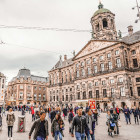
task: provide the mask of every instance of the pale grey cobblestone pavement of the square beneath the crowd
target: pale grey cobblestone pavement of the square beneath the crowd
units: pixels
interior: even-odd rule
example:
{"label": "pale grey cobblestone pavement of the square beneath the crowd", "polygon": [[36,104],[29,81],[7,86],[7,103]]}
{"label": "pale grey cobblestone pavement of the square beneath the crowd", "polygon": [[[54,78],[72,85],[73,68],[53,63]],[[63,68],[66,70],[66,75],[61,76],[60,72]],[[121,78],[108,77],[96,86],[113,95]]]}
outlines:
{"label": "pale grey cobblestone pavement of the square beneath the crowd", "polygon": [[[17,132],[17,120],[18,115],[20,115],[21,112],[15,112],[16,115],[16,122],[14,125],[14,140],[28,140],[28,133],[32,126],[31,121],[31,114],[26,113],[26,132],[25,133],[18,133]],[[107,134],[107,126],[106,126],[106,114],[102,113],[99,117],[99,124],[96,126],[95,130],[95,138],[96,140],[140,140],[140,125],[134,124],[134,118],[133,115],[131,115],[132,124],[126,125],[124,120],[124,115],[121,114],[121,127],[120,127],[120,135],[114,136],[113,138],[109,137]],[[69,124],[68,121],[65,121],[65,130],[64,135],[65,137],[63,140],[75,140],[75,138],[72,138],[68,133]],[[50,131],[50,121],[49,121],[49,131]],[[7,140],[7,125],[6,125],[6,118],[3,117],[3,128],[2,131],[0,131],[0,140]],[[54,140],[51,136],[51,133],[49,135],[49,140]]]}

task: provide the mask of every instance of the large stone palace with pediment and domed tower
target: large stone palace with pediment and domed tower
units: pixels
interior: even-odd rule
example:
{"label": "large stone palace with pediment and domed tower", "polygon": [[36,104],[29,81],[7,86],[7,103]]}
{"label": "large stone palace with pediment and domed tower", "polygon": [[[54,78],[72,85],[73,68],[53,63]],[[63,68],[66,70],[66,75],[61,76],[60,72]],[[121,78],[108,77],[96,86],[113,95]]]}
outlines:
{"label": "large stone palace with pediment and domed tower", "polygon": [[92,39],[73,58],[49,71],[50,104],[140,105],[140,31],[117,34],[115,14],[100,3],[91,18]]}

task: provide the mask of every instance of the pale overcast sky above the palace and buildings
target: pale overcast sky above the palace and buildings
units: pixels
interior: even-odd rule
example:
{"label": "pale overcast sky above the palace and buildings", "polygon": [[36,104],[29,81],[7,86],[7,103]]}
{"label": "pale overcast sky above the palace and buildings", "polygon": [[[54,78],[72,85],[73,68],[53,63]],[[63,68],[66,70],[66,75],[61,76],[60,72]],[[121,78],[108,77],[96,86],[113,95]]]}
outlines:
{"label": "pale overcast sky above the palace and buildings", "polygon": [[[134,31],[140,30],[140,22],[134,23],[135,0],[102,3],[115,13],[117,31],[121,30],[123,36],[127,35],[129,25],[134,26]],[[90,19],[98,4],[99,0],[0,0],[0,25],[91,30]],[[91,34],[0,28],[0,39],[6,43],[0,45],[0,71],[9,81],[23,67],[32,74],[47,76],[61,54],[72,57],[72,51],[82,49]]]}

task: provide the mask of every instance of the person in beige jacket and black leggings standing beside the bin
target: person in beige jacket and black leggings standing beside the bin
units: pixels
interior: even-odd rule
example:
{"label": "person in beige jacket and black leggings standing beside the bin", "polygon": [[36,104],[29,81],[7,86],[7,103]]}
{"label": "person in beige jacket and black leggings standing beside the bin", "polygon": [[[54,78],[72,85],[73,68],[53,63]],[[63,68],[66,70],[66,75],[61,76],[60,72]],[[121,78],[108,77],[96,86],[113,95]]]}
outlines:
{"label": "person in beige jacket and black leggings standing beside the bin", "polygon": [[13,112],[13,109],[10,108],[9,112],[7,113],[7,117],[6,117],[6,122],[7,122],[7,126],[8,126],[8,140],[12,140],[13,138],[13,126],[14,126],[14,122],[15,122],[15,115]]}

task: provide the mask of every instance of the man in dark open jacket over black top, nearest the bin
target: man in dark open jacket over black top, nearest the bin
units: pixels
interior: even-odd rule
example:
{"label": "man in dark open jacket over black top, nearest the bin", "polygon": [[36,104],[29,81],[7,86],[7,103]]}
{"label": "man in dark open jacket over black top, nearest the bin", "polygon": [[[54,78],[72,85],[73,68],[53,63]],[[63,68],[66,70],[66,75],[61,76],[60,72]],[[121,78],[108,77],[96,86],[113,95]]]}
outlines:
{"label": "man in dark open jacket over black top, nearest the bin", "polygon": [[30,130],[29,139],[31,139],[32,132],[34,132],[34,140],[48,140],[48,121],[45,120],[46,113],[40,113],[40,119],[36,120]]}

